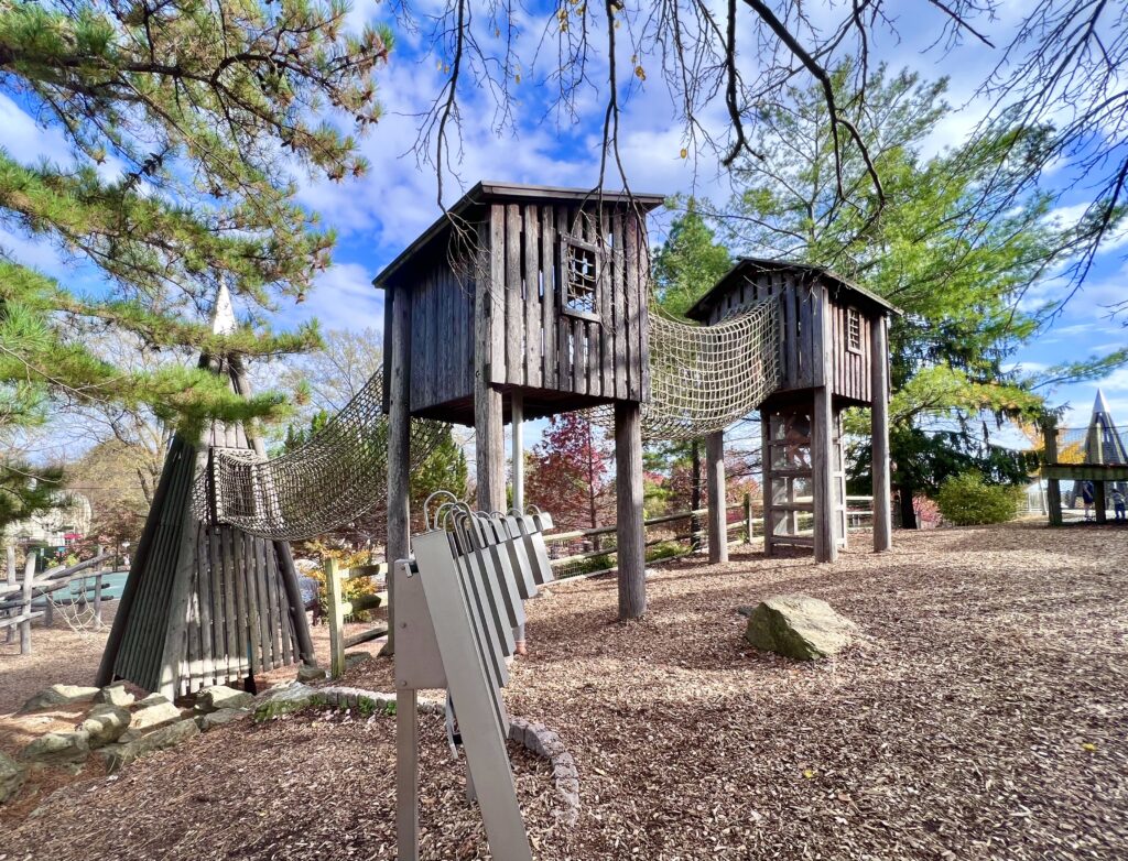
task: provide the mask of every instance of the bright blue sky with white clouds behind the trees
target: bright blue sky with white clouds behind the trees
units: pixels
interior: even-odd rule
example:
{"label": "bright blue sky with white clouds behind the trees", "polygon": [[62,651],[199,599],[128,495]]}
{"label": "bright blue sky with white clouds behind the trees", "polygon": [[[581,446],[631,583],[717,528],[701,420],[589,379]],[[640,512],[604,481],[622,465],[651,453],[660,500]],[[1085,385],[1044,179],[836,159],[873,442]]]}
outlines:
{"label": "bright blue sky with white clouds behind the trees", "polygon": [[[426,10],[435,6],[424,2],[416,8]],[[1024,7],[1019,0],[1004,5],[999,20],[989,26],[996,44],[1007,42],[1013,16]],[[943,21],[938,14],[933,15],[931,8],[922,3],[905,8],[905,17],[897,21],[899,37],[876,34],[871,45],[872,55],[888,61],[892,68],[907,65],[925,78],[951,77],[949,100],[958,110],[944,121],[928,143],[933,151],[940,151],[961,142],[982,116],[985,104],[975,98],[975,89],[998,61],[999,51],[979,43],[966,44],[948,54],[938,48],[925,51],[936,38]],[[816,9],[814,14],[825,12]],[[439,214],[434,170],[418,162],[412,147],[416,139],[417,115],[439,91],[440,68],[448,57],[435,52],[425,33],[397,26],[388,15],[386,6],[370,1],[358,2],[352,10],[355,24],[390,23],[396,33],[391,62],[378,72],[386,114],[362,141],[363,152],[371,162],[363,179],[335,185],[302,178],[301,202],[320,213],[323,222],[337,231],[340,241],[334,266],[319,278],[309,301],[282,309],[280,321],[296,323],[316,316],[325,329],[380,328],[381,296],[371,286],[372,277]],[[517,21],[515,38],[526,48],[521,53],[528,56],[552,14],[545,12],[539,18],[527,12],[522,16]],[[620,64],[627,65],[631,51],[629,46],[622,47]],[[545,56],[545,60],[550,57]],[[598,57],[594,61],[592,76],[597,79],[603,76],[602,63]],[[493,103],[484,92],[467,89],[462,94],[462,148],[458,167],[462,185],[459,187],[453,177],[447,178],[450,189],[447,203],[484,178],[585,187],[596,181],[603,113],[601,95],[583,90],[578,99],[575,122],[557,125],[554,117],[545,117],[550,94],[543,82],[543,71],[536,68],[521,71],[523,83],[513,85],[515,132],[495,132]],[[726,198],[719,167],[707,153],[680,158],[682,127],[661,76],[650,74],[645,83],[640,83],[631,78],[627,65],[624,83],[627,82],[631,91],[622,118],[620,140],[632,188],[662,194],[695,192],[719,201]],[[706,122],[720,122],[720,105],[707,112]],[[27,160],[37,156],[67,158],[59,132],[38,127],[18,104],[2,94],[0,145]],[[112,170],[113,166],[106,169]],[[1076,205],[1084,199],[1084,193],[1081,187],[1064,198],[1063,216],[1079,214]],[[655,220],[652,243],[662,241],[664,228],[662,219]],[[18,259],[33,263],[65,283],[97,286],[88,269],[76,270],[68,266],[47,246],[7,231],[0,231],[0,240]],[[1084,291],[1067,305],[1052,328],[1017,357],[1024,367],[1034,370],[1125,344],[1126,330],[1121,320],[1109,319],[1107,305],[1125,296],[1128,265],[1123,254],[1128,242],[1113,245],[1117,247],[1098,258]],[[1114,373],[1102,385],[1113,415],[1128,424],[1128,370]],[[1094,392],[1093,384],[1063,388],[1052,392],[1051,400],[1069,403],[1084,421]]]}

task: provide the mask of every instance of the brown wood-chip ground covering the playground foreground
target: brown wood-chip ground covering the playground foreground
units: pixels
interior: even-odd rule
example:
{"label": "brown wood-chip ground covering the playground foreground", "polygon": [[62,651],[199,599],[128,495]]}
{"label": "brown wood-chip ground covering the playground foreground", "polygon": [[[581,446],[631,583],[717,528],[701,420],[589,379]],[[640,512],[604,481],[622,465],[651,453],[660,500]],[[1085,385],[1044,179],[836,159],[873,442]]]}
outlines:
{"label": "brown wood-chip ground covering the playground foreground", "polygon": [[[530,602],[506,699],[559,734],[581,798],[563,827],[544,762],[514,751],[535,856],[1128,856],[1128,531],[895,540],[874,556],[858,535],[835,566],[663,566],[627,625],[606,579]],[[749,647],[737,607],[795,592],[864,640],[819,664]],[[347,683],[391,690],[390,667]],[[421,725],[423,856],[488,858],[439,718]],[[391,859],[393,805],[394,721],[308,713],[74,783],[0,856]]]}

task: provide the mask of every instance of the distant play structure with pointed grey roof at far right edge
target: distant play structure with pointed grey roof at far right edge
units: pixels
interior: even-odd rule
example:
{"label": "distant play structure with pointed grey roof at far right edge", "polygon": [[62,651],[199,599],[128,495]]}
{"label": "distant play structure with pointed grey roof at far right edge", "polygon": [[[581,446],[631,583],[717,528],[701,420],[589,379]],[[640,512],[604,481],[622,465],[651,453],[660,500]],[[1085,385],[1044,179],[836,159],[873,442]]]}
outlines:
{"label": "distant play structure with pointed grey roof at far right edge", "polygon": [[[1058,427],[1047,421],[1043,429],[1041,477],[1047,481],[1047,508],[1051,526],[1065,523],[1064,508],[1075,508],[1092,482],[1093,516],[1108,521],[1113,490],[1128,495],[1128,427],[1118,427],[1104,393],[1098,390],[1093,414],[1084,427]],[[1067,482],[1063,505],[1061,482]]]}

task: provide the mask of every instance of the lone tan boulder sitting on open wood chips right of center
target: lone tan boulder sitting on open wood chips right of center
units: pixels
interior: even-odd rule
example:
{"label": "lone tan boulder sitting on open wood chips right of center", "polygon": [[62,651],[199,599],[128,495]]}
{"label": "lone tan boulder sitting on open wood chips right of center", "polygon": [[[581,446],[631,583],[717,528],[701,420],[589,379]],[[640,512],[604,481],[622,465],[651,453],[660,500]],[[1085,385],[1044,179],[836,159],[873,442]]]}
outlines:
{"label": "lone tan boulder sitting on open wood chips right of center", "polygon": [[748,616],[744,639],[766,651],[797,660],[836,655],[854,641],[857,625],[825,601],[779,595],[757,605]]}

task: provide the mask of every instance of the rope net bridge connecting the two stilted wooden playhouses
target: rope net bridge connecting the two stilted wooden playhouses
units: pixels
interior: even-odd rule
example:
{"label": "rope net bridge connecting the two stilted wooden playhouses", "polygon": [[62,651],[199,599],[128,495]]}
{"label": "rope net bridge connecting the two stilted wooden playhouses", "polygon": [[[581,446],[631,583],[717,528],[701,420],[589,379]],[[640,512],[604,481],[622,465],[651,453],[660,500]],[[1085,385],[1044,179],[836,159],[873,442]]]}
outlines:
{"label": "rope net bridge connecting the two stilted wooden playhouses", "polygon": [[[755,410],[778,385],[779,303],[770,298],[712,326],[668,317],[650,304],[650,402],[643,440],[696,440]],[[592,410],[614,427],[614,408]]]}

